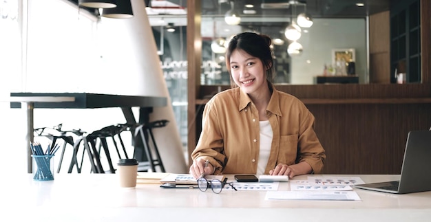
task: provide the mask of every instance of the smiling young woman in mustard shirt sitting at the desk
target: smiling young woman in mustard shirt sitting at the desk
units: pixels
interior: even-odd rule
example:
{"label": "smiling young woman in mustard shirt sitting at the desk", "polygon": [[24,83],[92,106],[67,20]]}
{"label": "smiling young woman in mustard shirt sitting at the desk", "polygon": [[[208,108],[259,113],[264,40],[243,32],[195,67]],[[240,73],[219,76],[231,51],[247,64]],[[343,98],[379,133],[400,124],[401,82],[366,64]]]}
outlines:
{"label": "smiling young woman in mustard shirt sitting at the desk", "polygon": [[202,132],[191,154],[193,177],[294,177],[322,170],[326,155],[314,131],[315,118],[300,100],[273,86],[270,45],[269,36],[252,32],[229,42],[226,65],[233,89],[213,96],[204,108]]}

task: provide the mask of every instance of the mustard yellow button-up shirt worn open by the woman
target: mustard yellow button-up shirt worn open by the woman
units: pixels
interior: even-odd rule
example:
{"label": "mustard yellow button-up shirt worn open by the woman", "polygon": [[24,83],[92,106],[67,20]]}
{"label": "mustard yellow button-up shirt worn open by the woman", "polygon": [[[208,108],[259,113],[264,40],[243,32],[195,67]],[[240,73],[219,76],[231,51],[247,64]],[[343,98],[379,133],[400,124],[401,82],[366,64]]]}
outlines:
{"label": "mustard yellow button-up shirt worn open by the woman", "polygon": [[[307,162],[314,173],[320,173],[326,155],[314,131],[315,118],[304,103],[273,87],[266,115],[273,129],[273,140],[265,174],[277,164],[299,162]],[[228,89],[205,105],[202,132],[191,157],[209,159],[215,175],[255,174],[259,136],[255,105],[239,87]]]}

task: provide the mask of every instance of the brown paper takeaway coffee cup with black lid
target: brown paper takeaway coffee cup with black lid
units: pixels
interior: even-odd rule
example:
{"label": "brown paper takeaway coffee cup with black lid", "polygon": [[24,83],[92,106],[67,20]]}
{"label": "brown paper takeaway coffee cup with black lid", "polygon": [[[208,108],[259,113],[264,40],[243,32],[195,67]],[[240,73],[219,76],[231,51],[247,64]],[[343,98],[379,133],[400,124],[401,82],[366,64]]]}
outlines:
{"label": "brown paper takeaway coffee cup with black lid", "polygon": [[120,187],[136,187],[136,175],[138,174],[138,162],[136,159],[119,159],[117,166]]}

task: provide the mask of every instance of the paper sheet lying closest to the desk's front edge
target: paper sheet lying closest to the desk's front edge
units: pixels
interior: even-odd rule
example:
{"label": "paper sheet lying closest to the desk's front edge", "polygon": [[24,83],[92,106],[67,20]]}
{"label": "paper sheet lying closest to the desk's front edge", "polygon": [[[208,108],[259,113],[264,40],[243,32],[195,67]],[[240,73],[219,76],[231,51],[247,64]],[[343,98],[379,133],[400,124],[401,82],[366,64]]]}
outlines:
{"label": "paper sheet lying closest to the desk's front edge", "polygon": [[355,191],[269,191],[266,200],[360,201]]}

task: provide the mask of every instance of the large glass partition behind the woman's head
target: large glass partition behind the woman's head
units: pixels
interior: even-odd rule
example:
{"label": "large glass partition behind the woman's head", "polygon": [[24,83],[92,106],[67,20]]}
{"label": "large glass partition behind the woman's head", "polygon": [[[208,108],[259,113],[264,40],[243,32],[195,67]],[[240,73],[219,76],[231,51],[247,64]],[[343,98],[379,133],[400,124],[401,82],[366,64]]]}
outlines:
{"label": "large glass partition behind the woman's head", "polygon": [[[366,19],[313,19],[314,24],[302,28],[302,36],[296,41],[302,45],[299,54],[289,54],[293,43],[284,36],[285,18],[273,22],[254,22],[253,25],[227,25],[222,19],[202,19],[202,85],[229,85],[229,73],[224,63],[224,51],[220,41],[240,32],[268,34],[273,38],[275,56],[275,83],[308,85],[315,83],[317,76],[346,76],[347,65],[354,64],[349,72],[357,76],[359,83],[367,83],[367,32]],[[218,45],[218,47],[214,47]],[[337,58],[339,50],[353,52],[351,58]],[[342,63],[340,63],[342,61]],[[341,70],[341,66],[343,69]]]}

